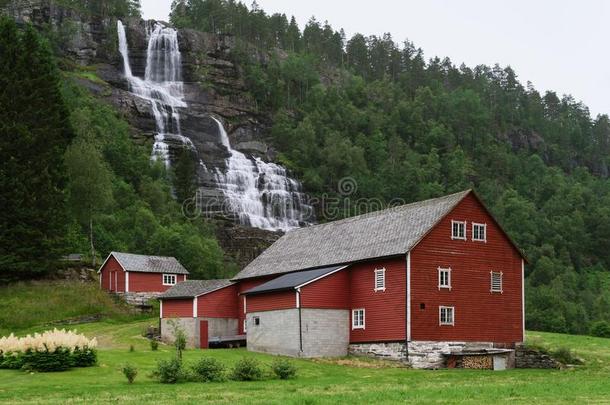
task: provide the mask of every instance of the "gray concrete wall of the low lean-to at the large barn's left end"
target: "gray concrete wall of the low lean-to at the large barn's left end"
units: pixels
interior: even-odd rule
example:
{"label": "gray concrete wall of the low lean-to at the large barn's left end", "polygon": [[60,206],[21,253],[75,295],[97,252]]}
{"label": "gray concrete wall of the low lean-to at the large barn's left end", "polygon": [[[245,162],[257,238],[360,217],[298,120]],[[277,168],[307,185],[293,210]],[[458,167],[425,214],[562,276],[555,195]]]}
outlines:
{"label": "gray concrete wall of the low lean-to at the large barn's left end", "polygon": [[218,336],[234,336],[237,334],[238,321],[235,318],[163,318],[161,319],[161,340],[174,343],[175,327],[177,325],[186,334],[186,347],[199,347],[199,321],[208,321],[208,339]]}

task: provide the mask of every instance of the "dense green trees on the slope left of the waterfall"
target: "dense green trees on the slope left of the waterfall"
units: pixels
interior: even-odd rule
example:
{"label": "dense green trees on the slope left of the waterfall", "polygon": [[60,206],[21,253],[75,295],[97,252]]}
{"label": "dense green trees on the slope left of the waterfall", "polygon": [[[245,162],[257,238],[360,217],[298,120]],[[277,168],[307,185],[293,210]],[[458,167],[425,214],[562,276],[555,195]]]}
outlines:
{"label": "dense green trees on the slope left of the waterfall", "polygon": [[72,252],[99,265],[111,250],[176,256],[194,278],[233,274],[210,224],[182,215],[173,173],[75,83],[95,74],[58,69],[53,48],[0,19],[0,281],[44,276]]}

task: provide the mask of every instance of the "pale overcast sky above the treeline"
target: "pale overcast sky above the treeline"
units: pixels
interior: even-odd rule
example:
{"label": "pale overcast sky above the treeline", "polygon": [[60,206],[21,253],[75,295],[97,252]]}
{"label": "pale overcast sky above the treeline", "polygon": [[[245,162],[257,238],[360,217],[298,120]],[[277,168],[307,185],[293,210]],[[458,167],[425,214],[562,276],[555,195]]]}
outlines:
{"label": "pale overcast sky above the treeline", "polygon": [[[167,20],[172,0],[142,0],[145,18]],[[246,4],[250,5],[248,0]],[[607,3],[607,4],[606,4]],[[510,65],[525,85],[572,94],[593,115],[610,113],[610,2],[604,0],[258,0],[268,14],[315,15],[349,36],[389,32],[426,58]]]}

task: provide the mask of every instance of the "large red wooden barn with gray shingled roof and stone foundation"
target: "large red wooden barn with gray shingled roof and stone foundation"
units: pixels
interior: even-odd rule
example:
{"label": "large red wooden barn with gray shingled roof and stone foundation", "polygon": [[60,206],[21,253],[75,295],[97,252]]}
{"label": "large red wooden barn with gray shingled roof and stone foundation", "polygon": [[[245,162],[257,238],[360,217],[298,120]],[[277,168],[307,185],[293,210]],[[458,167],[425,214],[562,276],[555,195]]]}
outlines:
{"label": "large red wooden barn with gray shingled roof and stone foundation", "polygon": [[468,190],[290,231],[218,305],[249,350],[441,367],[523,341],[524,260]]}

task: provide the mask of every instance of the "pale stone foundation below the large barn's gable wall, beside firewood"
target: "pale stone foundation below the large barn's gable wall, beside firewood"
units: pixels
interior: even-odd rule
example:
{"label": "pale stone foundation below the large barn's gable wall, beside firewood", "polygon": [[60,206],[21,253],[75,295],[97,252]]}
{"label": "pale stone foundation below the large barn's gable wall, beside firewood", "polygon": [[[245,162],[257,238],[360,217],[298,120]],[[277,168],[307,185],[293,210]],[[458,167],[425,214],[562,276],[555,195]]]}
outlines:
{"label": "pale stone foundation below the large barn's gable wall, beside firewood", "polygon": [[491,342],[409,342],[409,364],[413,368],[437,369],[445,368],[444,355],[453,352],[476,351],[492,349]]}

